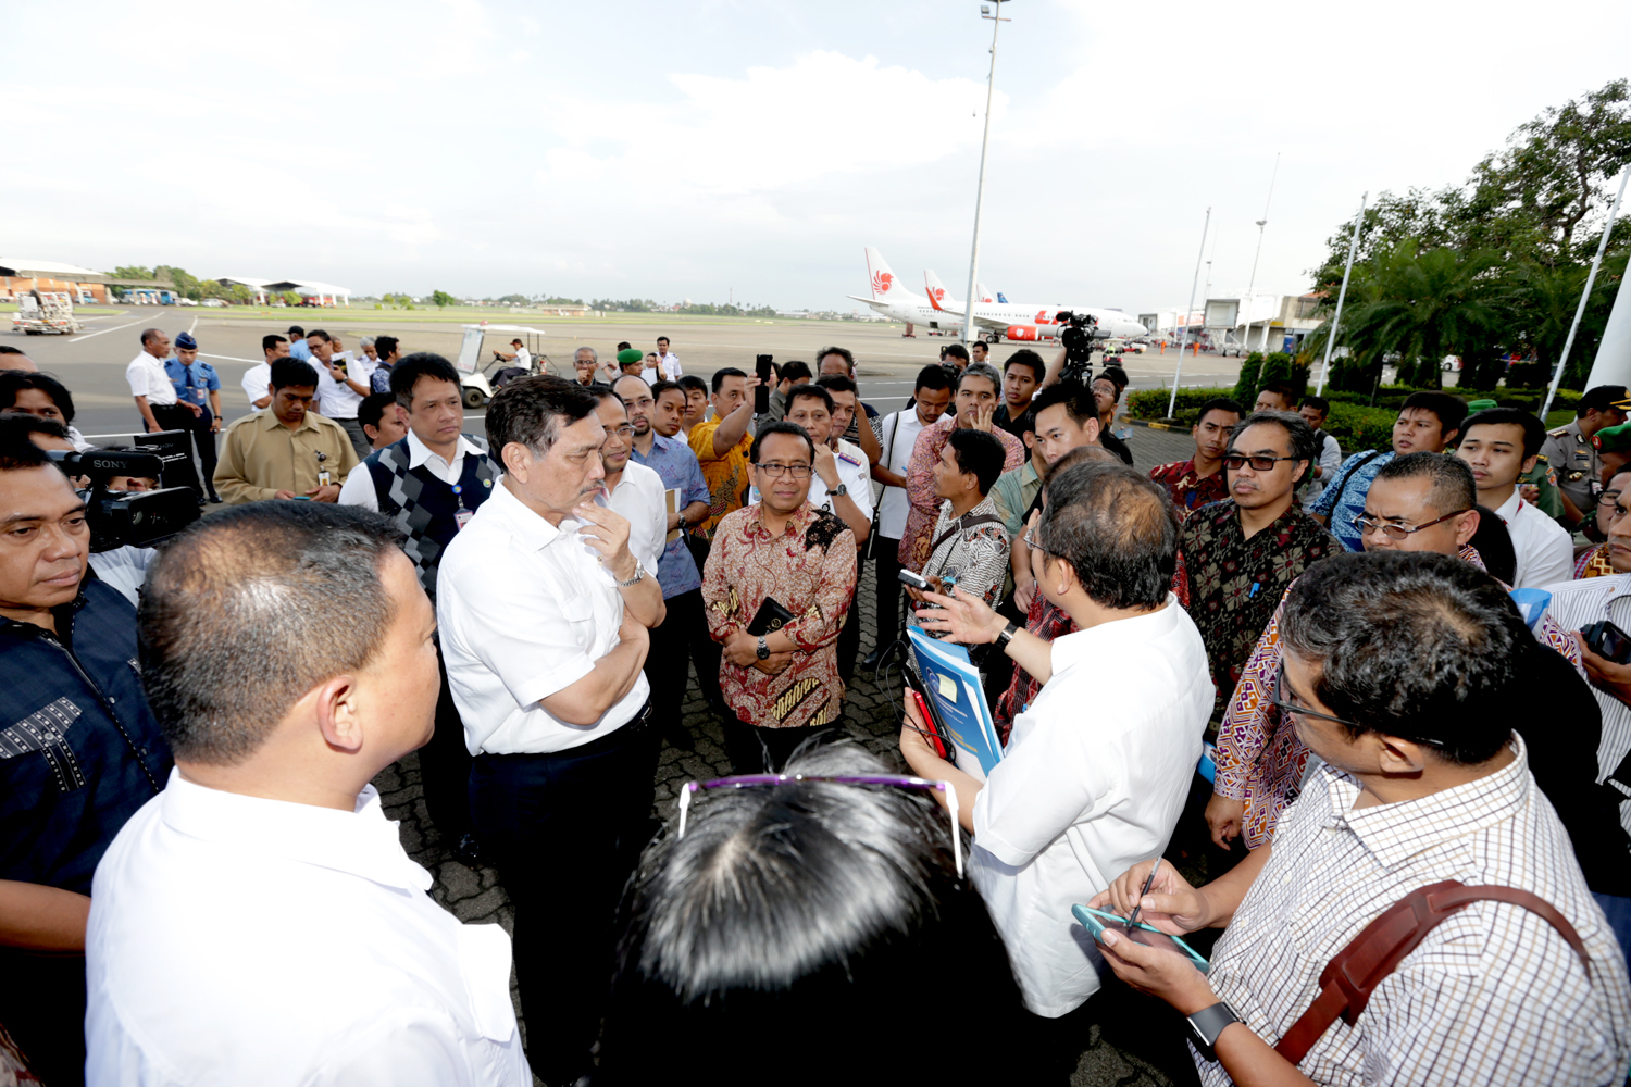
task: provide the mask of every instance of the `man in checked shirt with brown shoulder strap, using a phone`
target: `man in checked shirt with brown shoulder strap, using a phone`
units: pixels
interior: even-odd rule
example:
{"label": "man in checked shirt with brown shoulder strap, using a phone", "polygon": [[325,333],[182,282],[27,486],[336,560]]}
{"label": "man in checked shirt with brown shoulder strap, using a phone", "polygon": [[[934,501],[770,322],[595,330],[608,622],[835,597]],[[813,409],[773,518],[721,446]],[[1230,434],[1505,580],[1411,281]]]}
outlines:
{"label": "man in checked shirt with brown shoulder strap, using a phone", "polygon": [[[1541,655],[1504,588],[1448,556],[1342,554],[1297,583],[1275,701],[1324,766],[1274,844],[1202,888],[1140,860],[1090,903],[1173,935],[1228,926],[1207,975],[1114,929],[1099,944],[1189,1020],[1200,1082],[1623,1080],[1623,952],[1536,787]],[[1417,891],[1448,924],[1395,918],[1386,935],[1419,939],[1383,958],[1360,937],[1342,978],[1365,996],[1333,981]]]}

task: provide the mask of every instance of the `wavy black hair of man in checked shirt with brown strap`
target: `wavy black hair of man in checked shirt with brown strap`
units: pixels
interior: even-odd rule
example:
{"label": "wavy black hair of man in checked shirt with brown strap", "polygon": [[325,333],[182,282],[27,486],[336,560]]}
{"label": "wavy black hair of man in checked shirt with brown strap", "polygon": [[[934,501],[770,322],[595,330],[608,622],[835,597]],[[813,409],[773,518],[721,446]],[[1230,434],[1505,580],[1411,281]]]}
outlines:
{"label": "wavy black hair of man in checked shirt with brown strap", "polygon": [[[1487,763],[1523,702],[1525,647],[1536,647],[1507,590],[1430,551],[1336,554],[1292,582],[1285,650],[1318,670],[1303,691],[1367,732],[1421,743],[1448,763]],[[1549,650],[1543,650],[1549,652]]]}

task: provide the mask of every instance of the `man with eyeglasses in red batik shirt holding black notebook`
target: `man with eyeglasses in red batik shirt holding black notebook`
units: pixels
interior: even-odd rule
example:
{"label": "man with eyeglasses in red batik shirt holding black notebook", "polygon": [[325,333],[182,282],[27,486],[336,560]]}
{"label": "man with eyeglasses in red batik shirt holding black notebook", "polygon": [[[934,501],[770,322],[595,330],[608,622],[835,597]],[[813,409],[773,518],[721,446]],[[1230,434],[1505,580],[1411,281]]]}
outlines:
{"label": "man with eyeglasses in red batik shirt holding black notebook", "polygon": [[719,521],[703,570],[737,774],[778,771],[843,714],[837,640],[856,570],[855,533],[807,500],[809,432],[794,422],[760,427],[749,461],[758,500]]}

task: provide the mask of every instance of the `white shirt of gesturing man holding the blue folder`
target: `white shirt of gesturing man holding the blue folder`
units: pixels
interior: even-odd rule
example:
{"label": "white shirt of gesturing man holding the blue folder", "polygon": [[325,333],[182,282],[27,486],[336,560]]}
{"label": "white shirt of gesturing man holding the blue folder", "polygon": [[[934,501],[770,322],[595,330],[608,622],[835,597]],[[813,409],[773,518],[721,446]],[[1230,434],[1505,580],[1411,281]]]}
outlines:
{"label": "white shirt of gesturing man holding the blue folder", "polygon": [[1070,908],[1173,836],[1212,714],[1207,650],[1168,595],[1160,611],[1054,640],[1054,678],[1014,719],[974,799],[969,875],[1008,947],[1026,1007],[1057,1019],[1099,989]]}

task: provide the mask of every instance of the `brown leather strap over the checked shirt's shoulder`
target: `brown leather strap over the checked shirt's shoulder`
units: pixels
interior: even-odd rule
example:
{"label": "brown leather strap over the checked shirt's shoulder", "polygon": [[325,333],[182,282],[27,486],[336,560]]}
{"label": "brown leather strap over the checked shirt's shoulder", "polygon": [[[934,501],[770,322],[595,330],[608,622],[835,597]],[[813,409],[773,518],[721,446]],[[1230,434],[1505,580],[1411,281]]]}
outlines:
{"label": "brown leather strap over the checked shirt's shoulder", "polygon": [[1324,973],[1319,975],[1319,996],[1292,1023],[1274,1051],[1298,1064],[1337,1019],[1352,1027],[1377,986],[1398,970],[1427,934],[1474,901],[1509,903],[1538,914],[1574,948],[1590,979],[1592,962],[1580,934],[1545,898],[1515,887],[1466,887],[1456,880],[1443,880],[1419,887],[1388,906],[1326,963]]}

